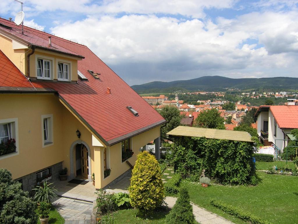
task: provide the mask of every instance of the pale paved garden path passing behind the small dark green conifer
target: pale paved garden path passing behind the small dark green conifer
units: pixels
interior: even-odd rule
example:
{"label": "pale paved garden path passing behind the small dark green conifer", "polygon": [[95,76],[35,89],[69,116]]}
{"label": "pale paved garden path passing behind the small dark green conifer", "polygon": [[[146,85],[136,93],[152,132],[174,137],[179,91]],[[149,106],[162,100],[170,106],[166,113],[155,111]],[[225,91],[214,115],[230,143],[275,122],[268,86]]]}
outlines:
{"label": "pale paved garden path passing behind the small dark green conifer", "polygon": [[[173,208],[176,200],[176,197],[166,197],[165,202],[167,202],[169,208]],[[217,214],[199,207],[198,205],[195,205],[193,203],[191,204],[193,206],[193,214],[195,216],[195,220],[200,224],[234,224],[231,221],[218,216]]]}

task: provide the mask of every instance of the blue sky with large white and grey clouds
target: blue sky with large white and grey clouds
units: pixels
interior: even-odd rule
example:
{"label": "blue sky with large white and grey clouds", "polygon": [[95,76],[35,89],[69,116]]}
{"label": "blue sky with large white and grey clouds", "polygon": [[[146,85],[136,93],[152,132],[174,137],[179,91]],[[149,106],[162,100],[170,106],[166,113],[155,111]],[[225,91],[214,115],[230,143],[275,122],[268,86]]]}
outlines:
{"label": "blue sky with large white and grey clouds", "polygon": [[[298,77],[298,0],[23,0],[24,24],[88,46],[129,85]],[[21,10],[0,1],[0,16]]]}

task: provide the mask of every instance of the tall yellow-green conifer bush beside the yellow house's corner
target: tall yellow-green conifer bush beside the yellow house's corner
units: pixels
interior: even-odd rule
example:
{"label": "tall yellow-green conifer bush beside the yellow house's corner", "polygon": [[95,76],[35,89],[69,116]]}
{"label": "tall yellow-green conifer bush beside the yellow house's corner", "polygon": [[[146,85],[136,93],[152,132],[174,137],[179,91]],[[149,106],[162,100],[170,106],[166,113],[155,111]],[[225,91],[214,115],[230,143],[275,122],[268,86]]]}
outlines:
{"label": "tall yellow-green conifer bush beside the yellow house's corner", "polygon": [[131,205],[145,214],[162,204],[164,187],[160,166],[147,151],[137,157],[128,190]]}

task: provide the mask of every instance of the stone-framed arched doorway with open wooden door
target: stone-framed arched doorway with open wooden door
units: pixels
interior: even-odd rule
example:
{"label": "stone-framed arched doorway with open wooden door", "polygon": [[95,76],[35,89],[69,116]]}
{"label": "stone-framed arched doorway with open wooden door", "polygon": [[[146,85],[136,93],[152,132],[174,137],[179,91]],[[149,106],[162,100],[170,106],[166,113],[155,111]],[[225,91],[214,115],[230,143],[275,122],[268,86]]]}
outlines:
{"label": "stone-framed arched doorway with open wooden door", "polygon": [[78,176],[91,181],[91,153],[88,144],[77,140],[70,147],[70,178]]}

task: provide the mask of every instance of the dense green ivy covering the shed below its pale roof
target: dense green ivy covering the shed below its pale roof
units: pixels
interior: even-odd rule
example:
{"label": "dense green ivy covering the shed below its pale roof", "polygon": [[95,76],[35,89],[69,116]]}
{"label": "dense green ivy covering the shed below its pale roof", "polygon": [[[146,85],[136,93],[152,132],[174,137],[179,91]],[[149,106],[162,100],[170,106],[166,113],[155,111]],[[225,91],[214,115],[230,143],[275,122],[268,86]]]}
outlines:
{"label": "dense green ivy covering the shed below its pale roof", "polygon": [[206,177],[222,184],[250,184],[255,175],[250,142],[176,137],[169,151],[168,160],[183,177],[199,178],[205,169]]}

